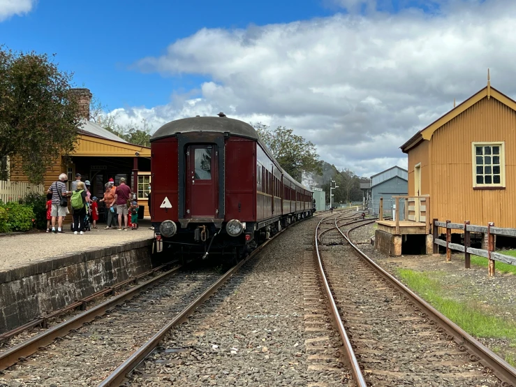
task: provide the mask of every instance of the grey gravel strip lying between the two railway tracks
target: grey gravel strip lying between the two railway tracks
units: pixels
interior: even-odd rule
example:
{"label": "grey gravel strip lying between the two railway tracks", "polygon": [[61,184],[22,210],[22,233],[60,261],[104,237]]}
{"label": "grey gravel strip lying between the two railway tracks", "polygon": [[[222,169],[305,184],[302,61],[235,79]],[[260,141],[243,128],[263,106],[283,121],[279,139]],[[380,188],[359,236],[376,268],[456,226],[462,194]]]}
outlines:
{"label": "grey gravel strip lying between the two railway tracks", "polygon": [[[331,348],[338,345],[331,324],[322,319],[320,331],[307,330],[314,328],[307,314],[318,313],[306,302],[314,282],[304,265],[306,252],[311,261],[317,222],[304,221],[273,240],[188,323],[172,330],[128,385],[346,386],[350,377]],[[313,356],[314,343],[334,355]]]}

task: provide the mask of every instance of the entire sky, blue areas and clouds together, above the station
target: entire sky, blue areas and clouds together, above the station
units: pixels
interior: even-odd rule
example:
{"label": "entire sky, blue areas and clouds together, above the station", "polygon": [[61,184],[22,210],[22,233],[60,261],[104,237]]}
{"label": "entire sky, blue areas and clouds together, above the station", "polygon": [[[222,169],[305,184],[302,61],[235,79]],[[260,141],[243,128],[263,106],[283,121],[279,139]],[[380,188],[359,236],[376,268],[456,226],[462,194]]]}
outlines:
{"label": "entire sky, blue areas and clouds together, above the station", "polygon": [[222,111],[361,176],[406,168],[487,68],[514,98],[515,24],[514,0],[0,0],[0,45],[56,54],[121,124]]}

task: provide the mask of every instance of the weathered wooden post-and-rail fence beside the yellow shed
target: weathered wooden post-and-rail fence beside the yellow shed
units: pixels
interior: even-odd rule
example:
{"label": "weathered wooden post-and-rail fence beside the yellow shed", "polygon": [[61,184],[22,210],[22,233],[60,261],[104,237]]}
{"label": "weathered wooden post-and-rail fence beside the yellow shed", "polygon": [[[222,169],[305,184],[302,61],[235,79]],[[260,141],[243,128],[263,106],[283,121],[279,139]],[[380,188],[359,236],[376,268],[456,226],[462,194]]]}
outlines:
{"label": "weathered wooden post-and-rail fence beside the yellow shed", "polygon": [[[446,261],[452,260],[452,250],[462,251],[464,253],[465,267],[471,267],[471,254],[483,256],[489,260],[487,270],[489,277],[494,276],[494,261],[508,263],[509,265],[516,265],[516,258],[506,256],[494,251],[494,235],[503,235],[507,237],[516,237],[516,228],[501,228],[494,227],[494,223],[489,223],[487,226],[474,226],[465,221],[464,224],[452,223],[451,221],[438,221],[434,219],[434,254],[438,253],[438,246],[446,248]],[[439,227],[446,229],[446,240],[438,239]],[[464,230],[464,246],[458,243],[452,243],[452,230]],[[487,234],[487,250],[476,249],[471,247],[471,233]]]}

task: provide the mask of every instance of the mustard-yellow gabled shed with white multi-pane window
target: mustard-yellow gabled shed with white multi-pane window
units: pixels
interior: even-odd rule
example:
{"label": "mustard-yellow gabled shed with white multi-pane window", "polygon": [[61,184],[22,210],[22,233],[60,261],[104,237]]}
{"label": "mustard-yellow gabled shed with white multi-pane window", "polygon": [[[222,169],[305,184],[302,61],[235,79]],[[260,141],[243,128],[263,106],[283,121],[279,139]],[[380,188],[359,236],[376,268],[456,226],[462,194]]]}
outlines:
{"label": "mustard-yellow gabled shed with white multi-pane window", "polygon": [[516,102],[487,87],[401,146],[408,196],[429,196],[427,223],[516,227]]}

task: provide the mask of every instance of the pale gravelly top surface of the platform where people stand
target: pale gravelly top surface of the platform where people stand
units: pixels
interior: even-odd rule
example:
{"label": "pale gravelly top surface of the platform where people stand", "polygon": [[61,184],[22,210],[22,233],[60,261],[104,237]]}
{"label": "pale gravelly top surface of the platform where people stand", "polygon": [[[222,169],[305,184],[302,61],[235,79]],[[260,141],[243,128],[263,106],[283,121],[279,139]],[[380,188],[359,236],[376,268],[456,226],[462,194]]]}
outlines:
{"label": "pale gravelly top surface of the platform where people stand", "polygon": [[101,247],[119,246],[126,242],[146,240],[154,237],[149,230],[150,221],[140,221],[139,230],[117,231],[104,229],[105,224],[91,228],[84,235],[74,235],[70,226],[64,227],[64,234],[29,233],[0,237],[0,272],[21,268],[54,256],[84,252]]}

